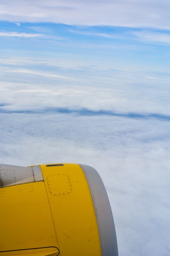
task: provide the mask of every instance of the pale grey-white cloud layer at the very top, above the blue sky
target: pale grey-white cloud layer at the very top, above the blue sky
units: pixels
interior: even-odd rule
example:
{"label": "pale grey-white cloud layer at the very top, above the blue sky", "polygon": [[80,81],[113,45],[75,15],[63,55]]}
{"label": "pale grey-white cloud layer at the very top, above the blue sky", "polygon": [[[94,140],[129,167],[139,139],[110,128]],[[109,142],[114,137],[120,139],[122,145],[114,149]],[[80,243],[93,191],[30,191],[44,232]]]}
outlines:
{"label": "pale grey-white cloud layer at the very top, above the blue sky", "polygon": [[0,19],[169,29],[169,1],[1,1]]}

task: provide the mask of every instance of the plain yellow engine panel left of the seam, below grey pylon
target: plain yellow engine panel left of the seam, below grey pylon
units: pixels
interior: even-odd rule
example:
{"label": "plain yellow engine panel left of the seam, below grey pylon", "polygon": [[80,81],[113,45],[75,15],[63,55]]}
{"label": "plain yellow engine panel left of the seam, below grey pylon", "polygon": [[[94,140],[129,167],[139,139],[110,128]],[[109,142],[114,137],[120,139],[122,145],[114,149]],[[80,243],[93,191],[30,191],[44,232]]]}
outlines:
{"label": "plain yellow engine panel left of the seam, below grey pylon", "polygon": [[[58,248],[43,181],[0,189],[0,217],[1,252],[42,247]],[[0,256],[2,255],[3,253],[0,253]]]}

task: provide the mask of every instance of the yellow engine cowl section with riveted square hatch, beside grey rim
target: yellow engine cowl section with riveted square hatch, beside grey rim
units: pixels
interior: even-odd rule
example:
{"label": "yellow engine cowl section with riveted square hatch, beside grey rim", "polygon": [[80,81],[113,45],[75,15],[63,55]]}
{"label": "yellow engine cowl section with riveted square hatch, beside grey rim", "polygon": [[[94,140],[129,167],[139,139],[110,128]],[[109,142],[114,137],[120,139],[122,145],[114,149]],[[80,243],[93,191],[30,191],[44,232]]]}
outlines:
{"label": "yellow engine cowl section with riveted square hatch, beside grey rim", "polygon": [[[101,256],[95,209],[88,183],[80,166],[64,164],[64,166],[40,165],[40,167],[49,198],[60,255]],[[64,178],[61,179],[63,189],[60,185],[58,190],[59,175],[63,175]],[[71,193],[68,193],[70,191],[65,180],[66,176],[72,188]],[[59,191],[62,193],[59,194]]]}

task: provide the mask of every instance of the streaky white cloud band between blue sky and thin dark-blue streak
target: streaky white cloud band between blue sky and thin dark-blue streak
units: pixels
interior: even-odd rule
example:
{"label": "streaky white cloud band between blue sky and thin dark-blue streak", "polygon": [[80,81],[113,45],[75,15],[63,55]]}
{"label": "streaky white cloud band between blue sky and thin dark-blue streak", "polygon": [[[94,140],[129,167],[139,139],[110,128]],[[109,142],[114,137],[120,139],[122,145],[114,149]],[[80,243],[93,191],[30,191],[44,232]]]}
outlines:
{"label": "streaky white cloud band between blue sky and thin dark-blue streak", "polygon": [[81,113],[85,109],[162,119],[169,115],[168,76],[110,68],[101,72],[97,67],[62,68],[50,61],[2,59],[1,63],[6,65],[0,68],[3,111]]}

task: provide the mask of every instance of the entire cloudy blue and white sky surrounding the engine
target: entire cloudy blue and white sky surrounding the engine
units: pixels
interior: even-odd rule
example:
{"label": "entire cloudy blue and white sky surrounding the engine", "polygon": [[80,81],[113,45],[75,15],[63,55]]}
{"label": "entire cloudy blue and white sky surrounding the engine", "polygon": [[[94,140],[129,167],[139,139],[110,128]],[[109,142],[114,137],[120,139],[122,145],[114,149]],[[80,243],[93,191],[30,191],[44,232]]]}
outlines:
{"label": "entire cloudy blue and white sky surrounding the engine", "polygon": [[0,163],[102,177],[119,256],[170,255],[169,0],[0,0]]}

